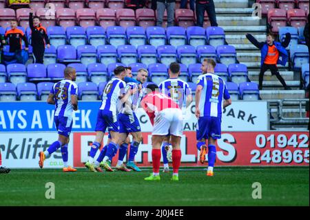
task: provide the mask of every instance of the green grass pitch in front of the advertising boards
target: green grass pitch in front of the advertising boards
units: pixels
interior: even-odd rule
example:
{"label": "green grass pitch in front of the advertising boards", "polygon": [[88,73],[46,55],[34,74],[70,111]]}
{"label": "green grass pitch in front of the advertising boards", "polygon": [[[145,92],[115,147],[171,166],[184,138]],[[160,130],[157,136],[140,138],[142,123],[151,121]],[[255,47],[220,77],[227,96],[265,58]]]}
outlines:
{"label": "green grass pitch in front of the advertising boards", "polygon": [[[309,206],[309,167],[183,168],[180,181],[144,181],[143,172],[86,169],[17,170],[0,174],[0,206]],[[46,199],[45,183],[53,182],[55,199]],[[252,184],[261,183],[262,199],[253,199]]]}

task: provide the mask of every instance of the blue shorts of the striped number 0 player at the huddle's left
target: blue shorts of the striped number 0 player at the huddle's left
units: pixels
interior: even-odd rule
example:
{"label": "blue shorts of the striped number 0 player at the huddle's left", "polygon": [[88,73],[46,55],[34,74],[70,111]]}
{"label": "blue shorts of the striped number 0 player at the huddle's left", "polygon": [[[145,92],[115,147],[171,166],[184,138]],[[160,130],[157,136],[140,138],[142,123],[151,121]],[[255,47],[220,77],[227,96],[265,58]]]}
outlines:
{"label": "blue shorts of the striped number 0 player at the huddle's left", "polygon": [[105,130],[109,130],[109,132],[118,132],[119,126],[117,117],[116,114],[113,114],[111,111],[99,110],[95,131],[105,132]]}

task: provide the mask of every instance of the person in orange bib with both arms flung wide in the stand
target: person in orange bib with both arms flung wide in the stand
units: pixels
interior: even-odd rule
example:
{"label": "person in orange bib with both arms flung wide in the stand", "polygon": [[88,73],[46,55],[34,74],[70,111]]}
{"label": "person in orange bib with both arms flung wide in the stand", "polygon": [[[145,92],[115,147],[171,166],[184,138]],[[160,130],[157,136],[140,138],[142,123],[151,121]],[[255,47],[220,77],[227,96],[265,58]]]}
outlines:
{"label": "person in orange bib with both arms flung wide in the stand", "polygon": [[265,72],[269,69],[271,74],[275,74],[278,80],[282,83],[285,90],[291,90],[285,83],[285,80],[280,76],[277,64],[285,66],[289,55],[285,48],[289,46],[291,41],[291,34],[285,34],[285,39],[282,43],[274,41],[274,35],[272,33],[267,34],[265,42],[258,42],[251,34],[245,35],[247,39],[260,49],[260,76],[259,76],[259,90],[262,90],[262,79]]}

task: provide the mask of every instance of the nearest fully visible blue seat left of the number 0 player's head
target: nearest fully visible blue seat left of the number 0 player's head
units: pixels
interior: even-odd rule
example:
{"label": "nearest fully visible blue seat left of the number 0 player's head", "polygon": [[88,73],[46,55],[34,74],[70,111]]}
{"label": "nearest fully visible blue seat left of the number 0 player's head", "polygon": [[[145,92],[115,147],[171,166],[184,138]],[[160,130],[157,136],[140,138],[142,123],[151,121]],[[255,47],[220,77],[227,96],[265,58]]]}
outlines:
{"label": "nearest fully visible blue seat left of the number 0 player's head", "polygon": [[99,85],[99,82],[109,81],[109,75],[107,74],[107,67],[102,63],[90,63],[87,66],[88,77],[90,81]]}

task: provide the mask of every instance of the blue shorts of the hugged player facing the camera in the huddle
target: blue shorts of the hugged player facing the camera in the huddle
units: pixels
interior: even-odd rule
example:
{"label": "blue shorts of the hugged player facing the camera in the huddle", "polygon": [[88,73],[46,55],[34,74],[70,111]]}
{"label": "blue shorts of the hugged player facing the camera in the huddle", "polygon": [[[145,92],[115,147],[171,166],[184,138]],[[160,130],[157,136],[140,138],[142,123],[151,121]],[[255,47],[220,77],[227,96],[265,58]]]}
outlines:
{"label": "blue shorts of the hugged player facing the camera in the huddle", "polygon": [[141,132],[140,123],[135,113],[118,114],[118,123],[120,133]]}

